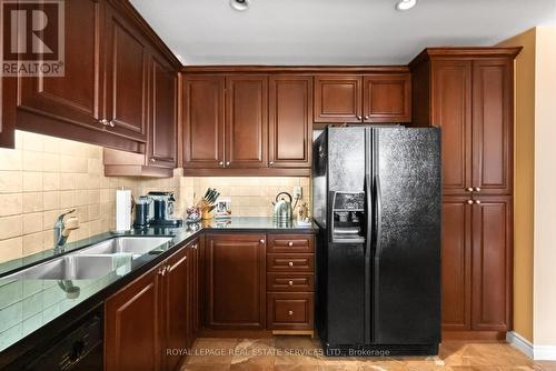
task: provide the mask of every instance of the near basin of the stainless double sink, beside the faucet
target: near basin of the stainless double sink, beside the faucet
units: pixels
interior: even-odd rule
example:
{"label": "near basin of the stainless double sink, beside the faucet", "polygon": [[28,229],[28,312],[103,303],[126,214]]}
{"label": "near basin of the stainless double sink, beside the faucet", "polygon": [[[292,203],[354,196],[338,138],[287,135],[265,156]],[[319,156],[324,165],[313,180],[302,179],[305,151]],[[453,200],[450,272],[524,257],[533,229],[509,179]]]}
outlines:
{"label": "near basin of the stainless double sink, beside the faucet", "polygon": [[116,270],[120,273],[129,272],[130,269],[131,254],[70,254],[24,269],[6,278],[16,280],[90,280],[105,277]]}

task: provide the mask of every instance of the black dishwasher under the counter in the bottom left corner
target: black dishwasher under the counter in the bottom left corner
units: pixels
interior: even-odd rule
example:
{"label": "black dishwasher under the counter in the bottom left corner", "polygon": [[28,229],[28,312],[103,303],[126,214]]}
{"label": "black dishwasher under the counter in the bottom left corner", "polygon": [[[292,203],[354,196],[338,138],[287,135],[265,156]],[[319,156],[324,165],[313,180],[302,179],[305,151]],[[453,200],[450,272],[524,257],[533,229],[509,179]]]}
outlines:
{"label": "black dishwasher under the counter in the bottom left corner", "polygon": [[21,357],[9,370],[102,371],[102,305]]}

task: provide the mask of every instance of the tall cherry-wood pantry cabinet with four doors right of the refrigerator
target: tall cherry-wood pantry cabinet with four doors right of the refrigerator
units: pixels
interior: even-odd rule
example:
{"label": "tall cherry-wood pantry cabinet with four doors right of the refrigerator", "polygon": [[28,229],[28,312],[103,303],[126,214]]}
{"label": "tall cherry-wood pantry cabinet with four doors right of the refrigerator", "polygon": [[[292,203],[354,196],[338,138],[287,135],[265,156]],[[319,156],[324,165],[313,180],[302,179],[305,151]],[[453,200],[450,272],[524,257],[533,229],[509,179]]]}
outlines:
{"label": "tall cherry-wood pantry cabinet with four doors right of the refrigerator", "polygon": [[411,63],[414,126],[443,132],[443,330],[512,330],[514,59],[433,48]]}

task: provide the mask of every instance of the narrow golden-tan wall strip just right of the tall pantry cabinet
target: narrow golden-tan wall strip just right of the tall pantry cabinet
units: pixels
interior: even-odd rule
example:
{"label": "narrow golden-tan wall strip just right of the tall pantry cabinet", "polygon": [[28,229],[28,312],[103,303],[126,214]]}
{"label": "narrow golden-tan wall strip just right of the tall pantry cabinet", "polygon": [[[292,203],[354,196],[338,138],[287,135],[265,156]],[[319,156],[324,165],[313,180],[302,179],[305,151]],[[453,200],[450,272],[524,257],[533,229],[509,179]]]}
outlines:
{"label": "narrow golden-tan wall strip just right of the tall pantry cabinet", "polygon": [[515,63],[514,331],[533,341],[535,40],[532,29],[500,43],[524,47]]}

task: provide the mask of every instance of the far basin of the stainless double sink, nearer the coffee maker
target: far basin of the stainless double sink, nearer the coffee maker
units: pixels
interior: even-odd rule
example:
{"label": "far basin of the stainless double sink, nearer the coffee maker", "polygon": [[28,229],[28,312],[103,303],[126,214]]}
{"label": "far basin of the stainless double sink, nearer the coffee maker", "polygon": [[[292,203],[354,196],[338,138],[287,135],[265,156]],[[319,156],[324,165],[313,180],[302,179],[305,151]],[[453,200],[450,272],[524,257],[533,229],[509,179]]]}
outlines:
{"label": "far basin of the stainless double sink, nearer the coffee maker", "polygon": [[133,258],[138,258],[149,251],[155,250],[170,242],[171,238],[162,237],[117,237],[97,244],[93,244],[87,249],[81,250],[79,253],[82,254],[111,254],[119,252],[129,252]]}

